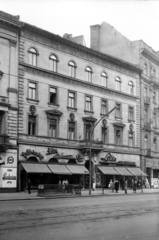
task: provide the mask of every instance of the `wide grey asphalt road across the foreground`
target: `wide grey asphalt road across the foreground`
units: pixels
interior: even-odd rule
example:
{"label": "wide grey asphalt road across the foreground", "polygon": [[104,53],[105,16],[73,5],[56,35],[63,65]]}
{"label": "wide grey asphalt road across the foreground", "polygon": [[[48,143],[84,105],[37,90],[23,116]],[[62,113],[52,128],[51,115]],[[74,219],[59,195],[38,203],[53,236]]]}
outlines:
{"label": "wide grey asphalt road across the foreground", "polygon": [[0,240],[159,240],[159,195],[0,203]]}

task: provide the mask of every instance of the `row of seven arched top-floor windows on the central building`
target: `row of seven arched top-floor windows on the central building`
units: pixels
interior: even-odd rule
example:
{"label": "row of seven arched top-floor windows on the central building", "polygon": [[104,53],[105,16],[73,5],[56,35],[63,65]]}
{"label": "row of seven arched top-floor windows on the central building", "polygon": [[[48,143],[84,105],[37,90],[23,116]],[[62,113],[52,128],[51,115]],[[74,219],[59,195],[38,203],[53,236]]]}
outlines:
{"label": "row of seven arched top-floor windows on the central building", "polygon": [[[33,66],[37,66],[37,51],[34,48],[30,48],[29,50],[29,63]],[[54,54],[50,55],[49,57],[49,61],[50,61],[50,70],[53,72],[57,72],[57,64],[59,62],[58,57]],[[76,77],[76,68],[77,65],[74,61],[69,61],[68,63],[68,71],[69,71],[69,76],[75,78]],[[86,71],[86,78],[88,82],[92,82],[92,75],[93,75],[93,70],[90,66],[87,66],[85,68]],[[107,87],[107,73],[106,72],[102,72],[101,73],[101,84],[104,87]],[[121,91],[121,78],[120,77],[116,77],[115,78],[115,86],[116,86],[116,90],[117,91]],[[133,95],[134,94],[134,84],[132,81],[129,81],[128,83],[129,86],[129,94]]]}

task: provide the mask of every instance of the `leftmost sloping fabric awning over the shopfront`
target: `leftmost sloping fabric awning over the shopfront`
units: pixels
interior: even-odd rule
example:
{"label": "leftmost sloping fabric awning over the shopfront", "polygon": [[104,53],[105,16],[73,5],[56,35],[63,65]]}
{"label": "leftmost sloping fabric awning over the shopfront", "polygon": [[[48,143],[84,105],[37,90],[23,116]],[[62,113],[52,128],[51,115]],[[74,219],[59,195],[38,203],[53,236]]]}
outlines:
{"label": "leftmost sloping fabric awning over the shopfront", "polygon": [[27,173],[51,173],[46,164],[21,163]]}

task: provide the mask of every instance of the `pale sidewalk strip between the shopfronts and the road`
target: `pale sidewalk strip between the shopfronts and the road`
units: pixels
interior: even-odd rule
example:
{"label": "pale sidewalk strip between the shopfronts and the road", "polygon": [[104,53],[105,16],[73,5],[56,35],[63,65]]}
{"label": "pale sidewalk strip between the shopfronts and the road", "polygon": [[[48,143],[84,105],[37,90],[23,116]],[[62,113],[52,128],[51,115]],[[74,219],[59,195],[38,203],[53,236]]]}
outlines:
{"label": "pale sidewalk strip between the shopfronts and the road", "polygon": [[[128,190],[128,195],[139,195],[139,194],[159,194],[159,189],[138,189],[136,194],[132,190]],[[74,198],[74,197],[97,197],[97,196],[119,196],[125,195],[125,191],[119,190],[118,193],[112,193],[109,189],[104,189],[104,194],[102,189],[96,189],[91,191],[89,195],[89,190],[82,190],[81,195],[56,195],[52,194],[49,196],[37,196],[37,191],[32,191],[31,194],[28,192],[16,192],[16,193],[0,193],[0,201],[17,201],[17,200],[39,200],[39,199],[59,199],[59,198]]]}

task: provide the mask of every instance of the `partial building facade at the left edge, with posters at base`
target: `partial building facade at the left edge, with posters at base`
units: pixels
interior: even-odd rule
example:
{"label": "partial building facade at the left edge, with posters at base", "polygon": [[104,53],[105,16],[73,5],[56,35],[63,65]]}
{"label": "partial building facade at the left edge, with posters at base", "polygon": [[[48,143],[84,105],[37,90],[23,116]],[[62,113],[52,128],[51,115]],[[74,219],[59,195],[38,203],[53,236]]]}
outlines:
{"label": "partial building facade at the left edge, with posters at base", "polygon": [[17,190],[18,20],[0,12],[0,192]]}

